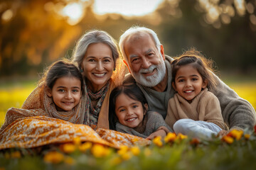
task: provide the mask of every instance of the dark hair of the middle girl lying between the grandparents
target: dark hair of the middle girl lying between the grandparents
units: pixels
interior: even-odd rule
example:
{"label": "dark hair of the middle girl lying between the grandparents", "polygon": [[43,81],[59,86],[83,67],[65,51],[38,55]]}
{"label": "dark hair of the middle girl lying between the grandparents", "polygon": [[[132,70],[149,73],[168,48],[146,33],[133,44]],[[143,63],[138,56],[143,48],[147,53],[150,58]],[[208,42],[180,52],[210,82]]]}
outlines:
{"label": "dark hair of the middle girl lying between the grandparents", "polygon": [[120,94],[125,94],[135,101],[140,101],[142,103],[143,110],[146,110],[144,106],[145,103],[147,103],[146,97],[144,96],[142,90],[139,89],[139,86],[137,86],[136,84],[122,84],[121,86],[117,86],[112,90],[110,94],[109,123],[111,130],[116,130],[115,125],[118,121],[118,118],[115,113],[115,105],[117,101],[117,96],[119,96]]}

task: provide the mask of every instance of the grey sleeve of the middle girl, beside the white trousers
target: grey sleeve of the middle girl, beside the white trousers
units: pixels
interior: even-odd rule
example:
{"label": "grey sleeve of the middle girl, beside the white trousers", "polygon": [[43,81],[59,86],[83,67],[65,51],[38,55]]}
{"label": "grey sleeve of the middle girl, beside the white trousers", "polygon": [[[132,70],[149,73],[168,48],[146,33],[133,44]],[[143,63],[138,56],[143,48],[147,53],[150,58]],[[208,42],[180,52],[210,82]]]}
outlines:
{"label": "grey sleeve of the middle girl, beside the white trousers", "polygon": [[149,111],[147,114],[149,114],[147,124],[154,125],[154,132],[160,129],[166,131],[166,134],[169,132],[173,132],[169,125],[166,124],[163,116],[160,113]]}

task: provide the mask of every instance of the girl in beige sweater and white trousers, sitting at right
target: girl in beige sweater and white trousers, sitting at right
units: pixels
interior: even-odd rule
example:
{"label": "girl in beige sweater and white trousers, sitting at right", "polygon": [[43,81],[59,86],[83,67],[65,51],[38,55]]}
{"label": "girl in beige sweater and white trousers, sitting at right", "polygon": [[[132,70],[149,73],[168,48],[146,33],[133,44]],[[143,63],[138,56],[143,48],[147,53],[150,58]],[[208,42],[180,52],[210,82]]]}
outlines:
{"label": "girl in beige sweater and white trousers, sitting at right", "polygon": [[205,139],[227,132],[218,98],[208,91],[215,88],[210,66],[196,50],[171,63],[172,86],[178,93],[169,100],[166,123],[174,132]]}

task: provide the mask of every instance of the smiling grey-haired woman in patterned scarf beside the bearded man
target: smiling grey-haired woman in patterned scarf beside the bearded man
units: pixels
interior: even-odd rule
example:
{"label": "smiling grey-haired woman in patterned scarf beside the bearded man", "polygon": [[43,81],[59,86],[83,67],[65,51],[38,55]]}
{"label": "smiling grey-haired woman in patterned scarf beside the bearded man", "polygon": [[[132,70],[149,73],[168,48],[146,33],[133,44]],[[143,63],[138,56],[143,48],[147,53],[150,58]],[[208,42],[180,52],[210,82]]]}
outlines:
{"label": "smiling grey-haired woman in patterned scarf beside the bearded man", "polygon": [[75,47],[73,61],[85,79],[85,124],[108,129],[110,92],[122,83],[125,71],[116,42],[102,30],[85,33]]}

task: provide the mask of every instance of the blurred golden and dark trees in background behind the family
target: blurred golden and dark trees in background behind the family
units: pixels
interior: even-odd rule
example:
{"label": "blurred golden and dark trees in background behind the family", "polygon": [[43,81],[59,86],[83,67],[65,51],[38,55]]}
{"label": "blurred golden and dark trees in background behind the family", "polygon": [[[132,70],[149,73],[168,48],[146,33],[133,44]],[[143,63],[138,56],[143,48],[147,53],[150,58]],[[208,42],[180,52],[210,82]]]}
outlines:
{"label": "blurred golden and dark trees in background behind the family", "polygon": [[[196,47],[222,70],[255,71],[256,0],[164,0],[156,11],[140,17],[100,16],[94,13],[93,3],[1,0],[0,77],[35,75],[54,60],[71,57],[75,42],[86,30],[106,30],[119,40],[133,25],[155,30],[166,55]],[[72,20],[68,8],[80,17]]]}

